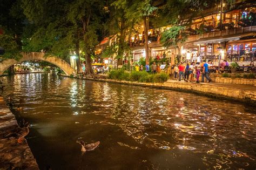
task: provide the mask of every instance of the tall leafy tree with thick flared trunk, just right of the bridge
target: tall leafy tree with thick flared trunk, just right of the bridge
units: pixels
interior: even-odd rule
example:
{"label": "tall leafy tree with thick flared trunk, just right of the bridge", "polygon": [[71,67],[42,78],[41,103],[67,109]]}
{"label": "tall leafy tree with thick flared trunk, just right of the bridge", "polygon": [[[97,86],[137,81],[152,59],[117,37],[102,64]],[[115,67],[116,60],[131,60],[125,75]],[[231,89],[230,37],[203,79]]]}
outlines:
{"label": "tall leafy tree with thick flared trunk, just right of the bridge", "polygon": [[98,43],[98,31],[102,28],[104,2],[99,0],[77,0],[69,4],[68,20],[81,31],[87,74],[93,75],[91,55]]}

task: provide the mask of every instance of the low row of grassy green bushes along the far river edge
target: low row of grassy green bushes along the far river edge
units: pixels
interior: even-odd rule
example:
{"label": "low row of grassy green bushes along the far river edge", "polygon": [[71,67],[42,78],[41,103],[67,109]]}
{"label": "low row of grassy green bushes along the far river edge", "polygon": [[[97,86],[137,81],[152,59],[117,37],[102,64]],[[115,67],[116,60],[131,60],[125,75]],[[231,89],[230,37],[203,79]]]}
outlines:
{"label": "low row of grassy green bushes along the far river edge", "polygon": [[122,69],[112,70],[109,72],[110,79],[138,81],[142,83],[164,83],[169,79],[169,75],[161,72],[158,74],[150,74],[146,71],[132,71],[127,72]]}

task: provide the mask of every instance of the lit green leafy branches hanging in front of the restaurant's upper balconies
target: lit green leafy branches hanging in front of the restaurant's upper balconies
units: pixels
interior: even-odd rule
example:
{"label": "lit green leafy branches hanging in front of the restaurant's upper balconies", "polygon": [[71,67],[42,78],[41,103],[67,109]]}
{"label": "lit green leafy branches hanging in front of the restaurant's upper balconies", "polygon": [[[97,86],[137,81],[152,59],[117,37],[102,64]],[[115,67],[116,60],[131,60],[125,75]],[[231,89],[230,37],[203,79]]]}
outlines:
{"label": "lit green leafy branches hanging in front of the restaurant's upper balconies", "polygon": [[[226,2],[231,6],[234,3],[233,0],[226,0]],[[161,35],[161,44],[169,47],[184,43],[189,36],[188,28],[191,27],[193,19],[208,15],[204,10],[215,8],[219,3],[219,0],[167,0],[157,12],[157,21],[160,21],[158,25],[171,25],[171,28]]]}

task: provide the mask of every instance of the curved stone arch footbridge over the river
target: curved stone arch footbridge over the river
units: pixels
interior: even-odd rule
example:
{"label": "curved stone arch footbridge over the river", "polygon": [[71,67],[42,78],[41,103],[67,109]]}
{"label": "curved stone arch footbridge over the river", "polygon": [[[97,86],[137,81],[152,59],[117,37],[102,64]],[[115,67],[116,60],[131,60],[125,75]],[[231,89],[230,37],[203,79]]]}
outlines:
{"label": "curved stone arch footbridge over the river", "polygon": [[44,52],[21,52],[21,55],[23,56],[19,60],[15,59],[5,59],[0,63],[0,75],[4,73],[5,70],[7,70],[10,66],[25,62],[29,60],[42,60],[45,62],[49,62],[51,64],[54,64],[58,66],[60,69],[62,69],[65,74],[70,76],[70,74],[75,73],[75,69],[73,69],[68,63],[66,63],[63,59],[60,59],[56,56],[45,56]]}

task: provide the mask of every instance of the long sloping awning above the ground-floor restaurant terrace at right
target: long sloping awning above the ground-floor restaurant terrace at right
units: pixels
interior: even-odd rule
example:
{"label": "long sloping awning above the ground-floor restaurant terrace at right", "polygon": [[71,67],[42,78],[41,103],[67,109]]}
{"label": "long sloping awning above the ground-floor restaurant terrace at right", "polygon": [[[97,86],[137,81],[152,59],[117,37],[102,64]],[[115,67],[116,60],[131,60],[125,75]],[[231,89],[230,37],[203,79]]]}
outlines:
{"label": "long sloping awning above the ground-floor restaurant terrace at right", "polygon": [[248,37],[248,36],[256,36],[256,32],[248,32],[248,33],[237,33],[235,35],[225,35],[225,36],[218,36],[218,37],[209,37],[209,38],[201,38],[198,40],[194,40],[194,45],[197,44],[208,44],[208,43],[219,43],[219,42],[229,42],[234,40],[240,40],[241,38]]}

